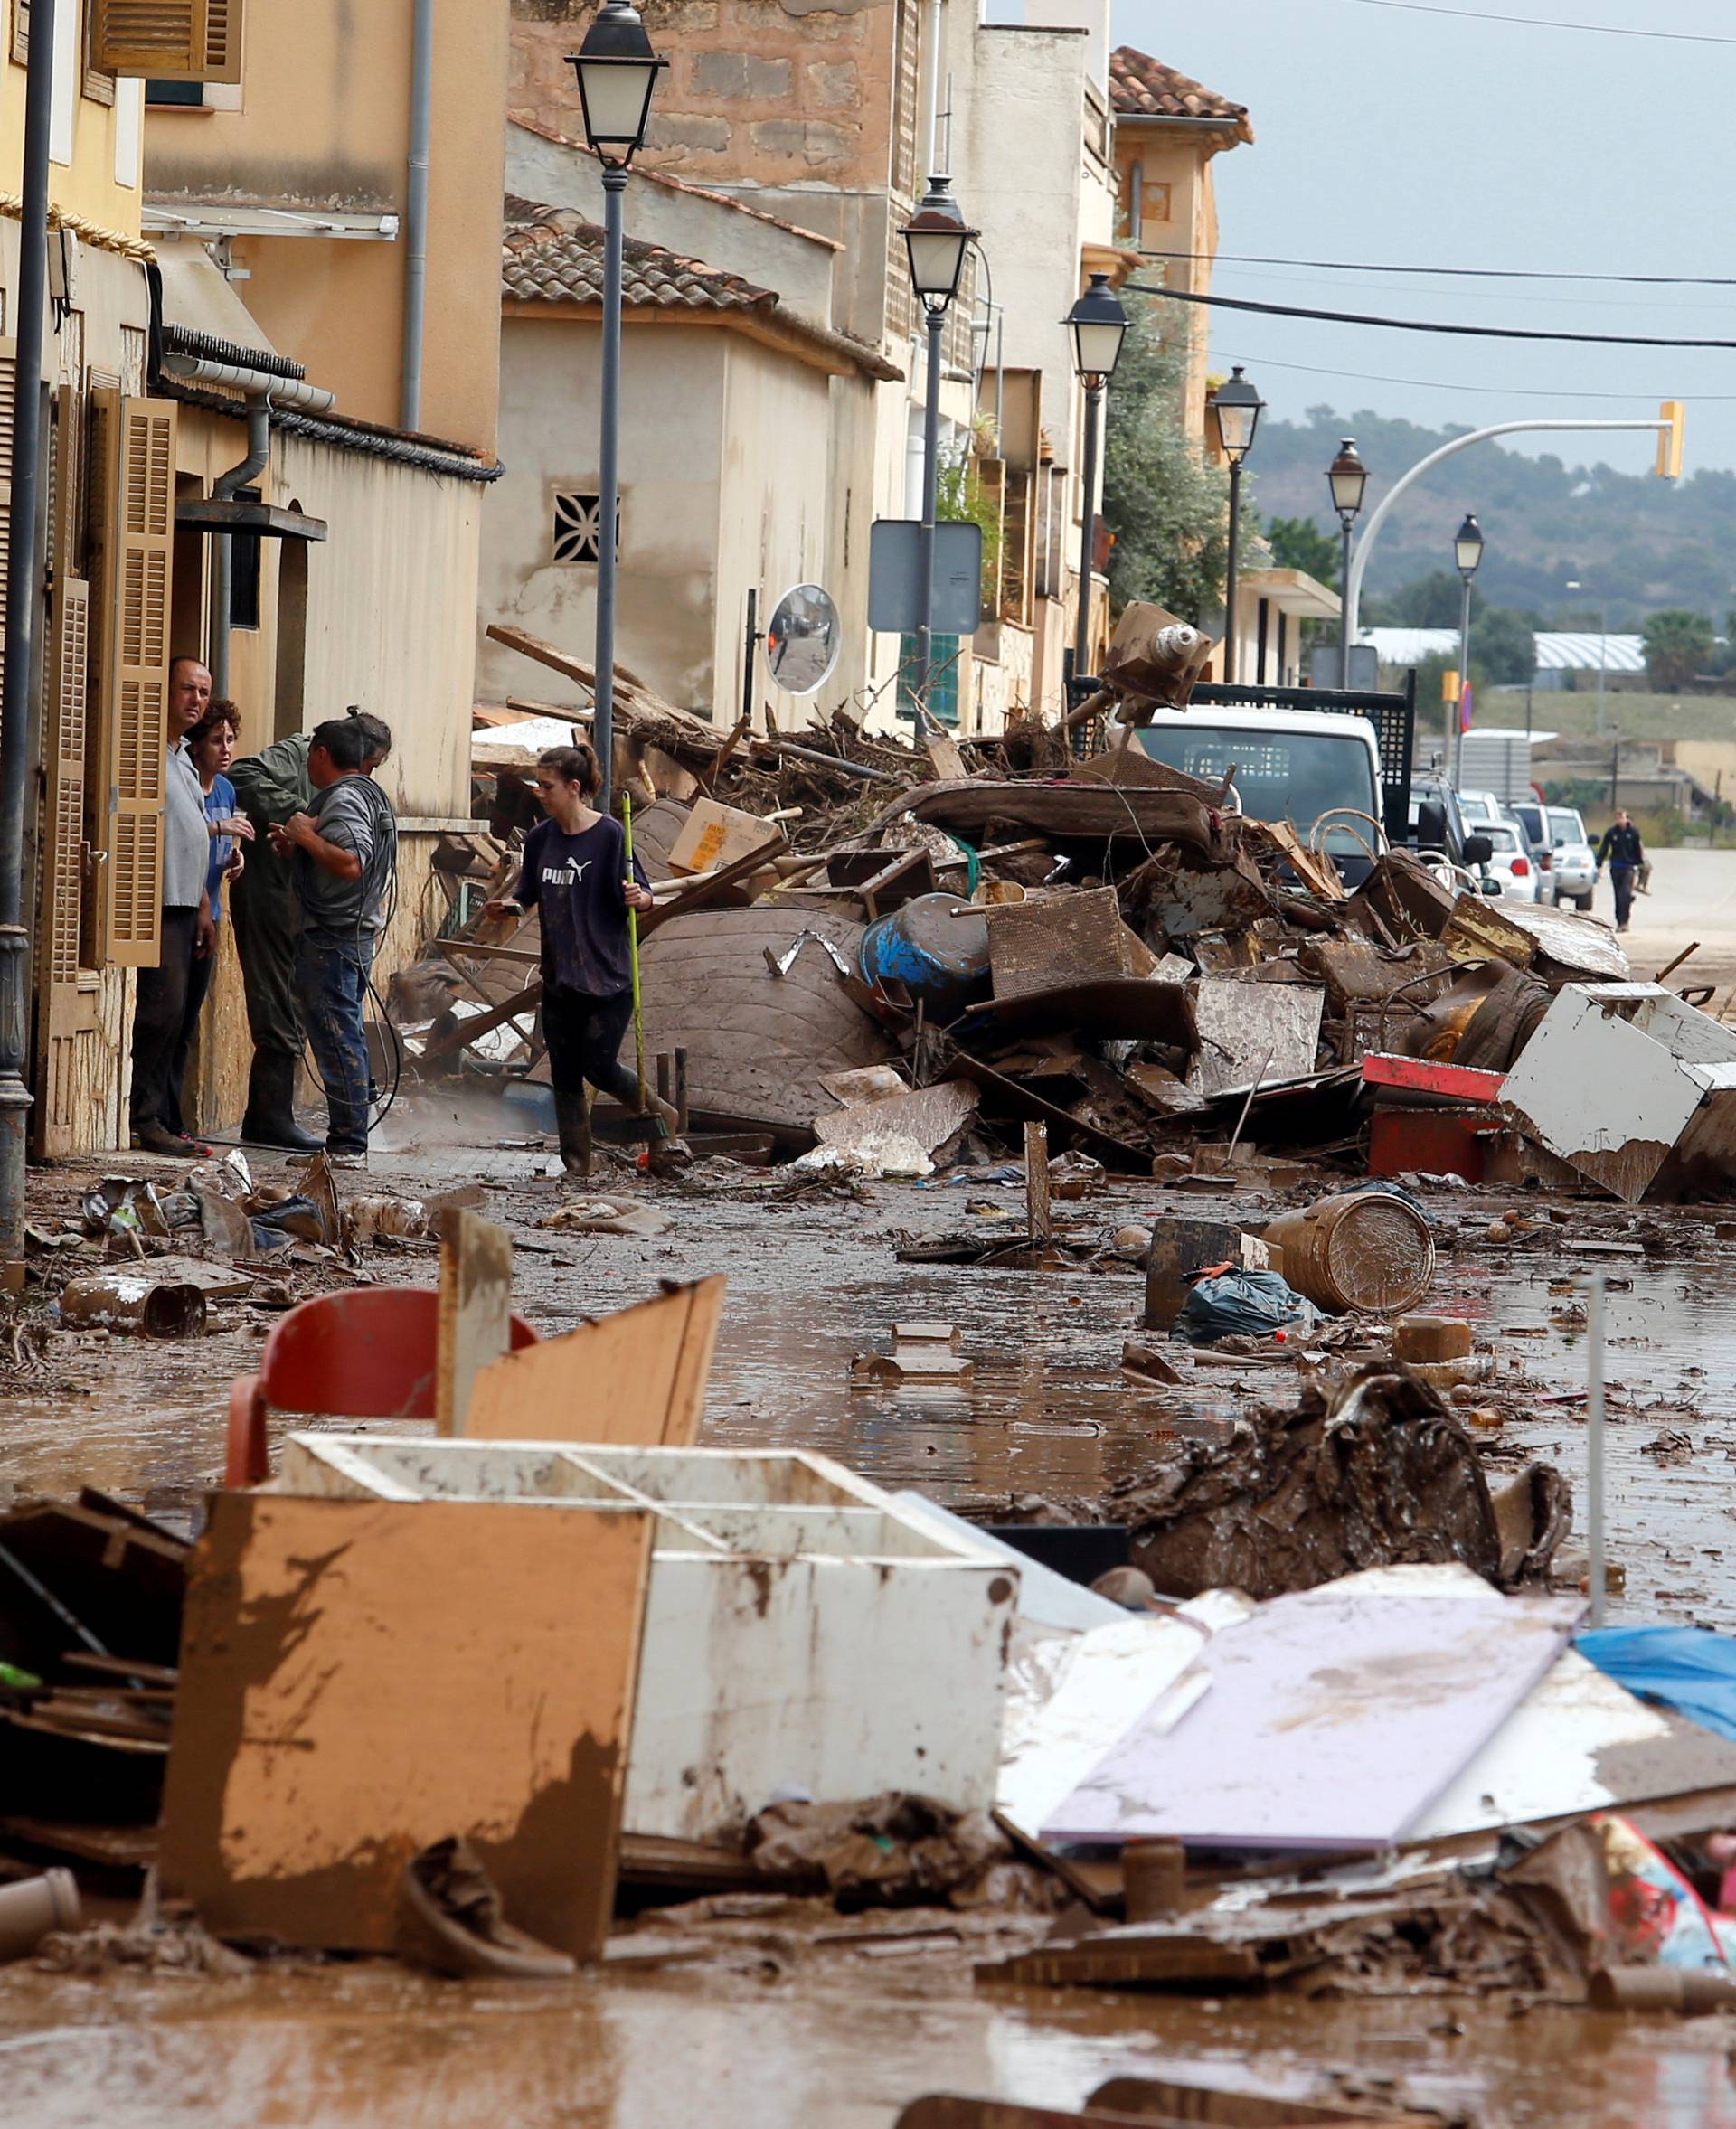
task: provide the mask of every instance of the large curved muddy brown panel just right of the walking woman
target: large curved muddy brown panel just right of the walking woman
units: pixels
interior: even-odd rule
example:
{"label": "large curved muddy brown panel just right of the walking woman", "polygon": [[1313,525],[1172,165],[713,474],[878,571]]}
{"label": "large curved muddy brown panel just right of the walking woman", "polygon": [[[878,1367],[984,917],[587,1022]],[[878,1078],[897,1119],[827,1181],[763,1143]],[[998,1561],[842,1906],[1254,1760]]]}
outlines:
{"label": "large curved muddy brown panel just right of the walking woman", "polygon": [[820,947],[803,947],[788,975],[797,933],[831,939],[852,969],[863,926],[814,909],[701,909],[673,918],[641,954],[645,1054],[688,1052],[688,1109],[697,1122],[728,1120],[812,1137],[835,1107],[824,1075],[897,1056],[897,1043],[844,992]]}

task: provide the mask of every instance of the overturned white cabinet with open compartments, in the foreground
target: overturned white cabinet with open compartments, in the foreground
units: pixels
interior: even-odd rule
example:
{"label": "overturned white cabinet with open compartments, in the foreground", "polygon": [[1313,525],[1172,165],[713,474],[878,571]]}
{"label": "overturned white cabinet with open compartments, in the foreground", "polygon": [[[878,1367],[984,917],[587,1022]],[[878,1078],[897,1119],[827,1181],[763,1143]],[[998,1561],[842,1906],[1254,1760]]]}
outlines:
{"label": "overturned white cabinet with open compartments, in the foreground", "polygon": [[816,1803],[995,1799],[1018,1571],[824,1456],[292,1435],[277,1495],[462,1507],[488,1558],[515,1541],[507,1520],[488,1537],[503,1509],[654,1512],[626,1754],[635,1835],[703,1839],[790,1788]]}

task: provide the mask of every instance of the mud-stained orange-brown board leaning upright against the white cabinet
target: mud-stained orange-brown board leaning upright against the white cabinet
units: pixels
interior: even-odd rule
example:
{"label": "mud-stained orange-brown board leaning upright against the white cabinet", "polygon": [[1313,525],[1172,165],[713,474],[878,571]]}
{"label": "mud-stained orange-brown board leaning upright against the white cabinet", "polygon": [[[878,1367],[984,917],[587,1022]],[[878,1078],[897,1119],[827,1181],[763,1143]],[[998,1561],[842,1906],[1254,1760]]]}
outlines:
{"label": "mud-stained orange-brown board leaning upright against the white cabinet", "polygon": [[652,1516],[217,1495],[187,1590],[164,1893],[217,1933],[386,1952],[462,1833],[507,1918],[609,1925]]}

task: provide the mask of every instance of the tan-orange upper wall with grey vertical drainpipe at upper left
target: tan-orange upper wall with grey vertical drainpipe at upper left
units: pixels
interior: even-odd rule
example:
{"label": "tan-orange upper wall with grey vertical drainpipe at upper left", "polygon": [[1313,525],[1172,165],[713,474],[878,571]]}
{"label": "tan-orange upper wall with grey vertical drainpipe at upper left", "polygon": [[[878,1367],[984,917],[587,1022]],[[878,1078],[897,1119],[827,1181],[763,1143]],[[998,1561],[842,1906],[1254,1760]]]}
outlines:
{"label": "tan-orange upper wall with grey vertical drainpipe at upper left", "polygon": [[[411,0],[275,0],[247,11],[239,111],[153,109],[151,196],[345,213],[405,211]],[[435,0],[428,328],[420,428],[494,447],[507,0]],[[339,394],[398,422],[405,245],[239,238],[247,307]]]}

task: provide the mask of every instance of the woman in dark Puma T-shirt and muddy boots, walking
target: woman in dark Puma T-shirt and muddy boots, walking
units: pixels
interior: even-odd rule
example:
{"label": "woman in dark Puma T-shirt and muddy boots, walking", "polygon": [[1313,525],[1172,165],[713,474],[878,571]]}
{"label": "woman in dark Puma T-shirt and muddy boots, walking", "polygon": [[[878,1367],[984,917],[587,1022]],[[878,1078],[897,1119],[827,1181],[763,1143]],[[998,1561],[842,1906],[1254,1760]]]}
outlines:
{"label": "woman in dark Puma T-shirt and muddy boots, walking", "polygon": [[[639,1109],[639,1077],[618,1056],[633,1020],[626,911],[652,907],[637,858],[628,875],[620,822],[592,805],[601,786],[590,741],[550,747],[537,760],[537,796],[547,820],[524,839],[513,886],[488,903],[488,915],[535,909],[541,918],[554,1118],[562,1167],[577,1182],[590,1175],[592,1152],[586,1082],[626,1109]],[[648,1094],[648,1109],[658,1139],[652,1171],[667,1175],[686,1158],[675,1137],[675,1109],[656,1094]]]}

